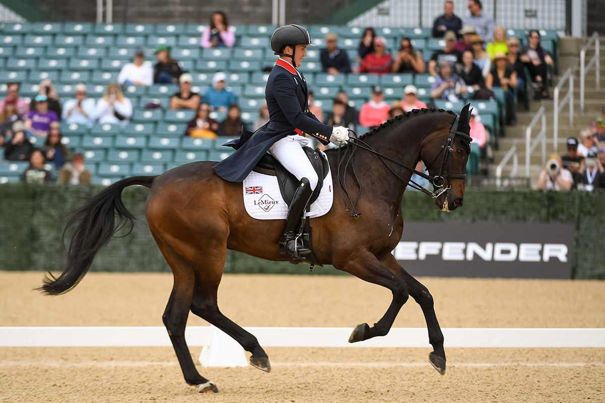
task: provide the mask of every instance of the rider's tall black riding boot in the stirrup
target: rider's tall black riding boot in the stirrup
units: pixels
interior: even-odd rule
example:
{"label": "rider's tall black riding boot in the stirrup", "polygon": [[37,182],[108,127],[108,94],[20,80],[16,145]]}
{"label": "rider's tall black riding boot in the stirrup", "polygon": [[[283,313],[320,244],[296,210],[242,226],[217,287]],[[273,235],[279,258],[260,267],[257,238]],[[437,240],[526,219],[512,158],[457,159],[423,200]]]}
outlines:
{"label": "rider's tall black riding boot in the stirrup", "polygon": [[313,189],[309,185],[309,179],[302,178],[296,188],[294,197],[292,198],[292,204],[290,204],[290,210],[286,216],[286,228],[284,228],[284,234],[280,239],[280,253],[290,254],[295,259],[301,259],[301,255],[310,253],[311,250],[302,246],[302,240],[296,241],[296,235],[294,231],[298,227],[299,222],[302,219],[302,214],[307,208],[307,202],[313,195]]}

